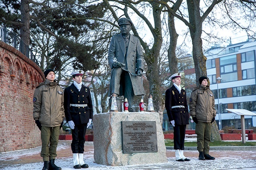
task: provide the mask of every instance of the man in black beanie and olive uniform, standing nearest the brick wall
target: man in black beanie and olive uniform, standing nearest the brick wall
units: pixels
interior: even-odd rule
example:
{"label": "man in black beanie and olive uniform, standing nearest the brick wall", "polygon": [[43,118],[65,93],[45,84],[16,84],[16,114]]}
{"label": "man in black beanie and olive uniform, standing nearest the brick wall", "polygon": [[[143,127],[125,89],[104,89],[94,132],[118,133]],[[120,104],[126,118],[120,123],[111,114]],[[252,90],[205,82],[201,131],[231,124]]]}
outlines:
{"label": "man in black beanie and olive uniform, standing nearest the brick wall", "polygon": [[62,88],[54,80],[54,70],[45,70],[44,76],[46,80],[36,87],[33,98],[33,117],[41,131],[41,156],[44,160],[42,170],[61,170],[54,162],[60,128],[65,116],[64,95]]}

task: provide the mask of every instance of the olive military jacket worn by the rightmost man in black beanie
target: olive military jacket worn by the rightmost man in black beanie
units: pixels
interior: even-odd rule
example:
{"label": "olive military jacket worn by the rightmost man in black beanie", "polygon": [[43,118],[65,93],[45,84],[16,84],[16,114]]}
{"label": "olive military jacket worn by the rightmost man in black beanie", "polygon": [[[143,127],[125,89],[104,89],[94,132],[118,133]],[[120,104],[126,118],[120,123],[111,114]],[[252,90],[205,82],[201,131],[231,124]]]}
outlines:
{"label": "olive military jacket worn by the rightmost man in black beanie", "polygon": [[215,102],[209,86],[194,88],[190,96],[190,115],[198,121],[210,123],[216,117]]}

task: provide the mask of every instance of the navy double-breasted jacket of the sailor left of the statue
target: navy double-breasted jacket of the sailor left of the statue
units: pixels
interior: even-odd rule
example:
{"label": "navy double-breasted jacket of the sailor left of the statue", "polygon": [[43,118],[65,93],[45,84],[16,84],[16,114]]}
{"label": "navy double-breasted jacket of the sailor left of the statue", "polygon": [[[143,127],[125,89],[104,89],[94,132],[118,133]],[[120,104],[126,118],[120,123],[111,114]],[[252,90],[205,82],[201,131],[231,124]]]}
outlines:
{"label": "navy double-breasted jacket of the sailor left of the statue", "polygon": [[[70,106],[70,104],[87,104],[86,107]],[[90,88],[82,84],[80,91],[71,84],[64,90],[64,109],[66,121],[73,121],[75,125],[88,123],[93,116]]]}

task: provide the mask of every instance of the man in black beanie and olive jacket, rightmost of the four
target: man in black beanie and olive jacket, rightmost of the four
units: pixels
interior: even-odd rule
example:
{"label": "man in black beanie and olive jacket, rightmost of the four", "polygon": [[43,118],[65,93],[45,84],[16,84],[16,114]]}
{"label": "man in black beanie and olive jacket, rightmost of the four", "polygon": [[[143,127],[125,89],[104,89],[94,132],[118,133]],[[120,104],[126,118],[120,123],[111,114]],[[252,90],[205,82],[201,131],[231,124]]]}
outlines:
{"label": "man in black beanie and olive jacket, rightmost of the four", "polygon": [[197,150],[199,160],[214,160],[209,155],[211,141],[211,123],[216,116],[215,102],[212,90],[208,86],[208,78],[199,78],[199,86],[194,88],[190,95],[190,115],[196,123]]}

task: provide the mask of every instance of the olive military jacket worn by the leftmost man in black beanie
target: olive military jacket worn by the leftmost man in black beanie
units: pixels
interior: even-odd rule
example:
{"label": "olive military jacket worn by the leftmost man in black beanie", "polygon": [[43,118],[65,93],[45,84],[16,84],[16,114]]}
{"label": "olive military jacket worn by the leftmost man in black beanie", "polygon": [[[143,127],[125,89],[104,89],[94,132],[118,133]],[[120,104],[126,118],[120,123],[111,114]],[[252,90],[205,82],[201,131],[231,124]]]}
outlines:
{"label": "olive military jacket worn by the leftmost man in black beanie", "polygon": [[34,92],[33,118],[39,120],[42,126],[60,126],[65,117],[64,95],[62,88],[54,82],[45,80],[40,83]]}

